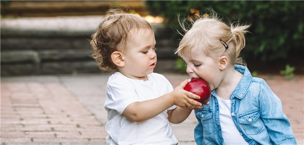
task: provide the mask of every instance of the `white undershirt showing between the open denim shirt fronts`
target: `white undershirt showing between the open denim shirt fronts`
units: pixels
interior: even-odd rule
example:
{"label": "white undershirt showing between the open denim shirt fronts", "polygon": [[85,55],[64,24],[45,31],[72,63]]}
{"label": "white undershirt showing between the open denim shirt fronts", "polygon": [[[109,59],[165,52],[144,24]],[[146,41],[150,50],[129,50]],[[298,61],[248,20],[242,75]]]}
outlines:
{"label": "white undershirt showing between the open denim shirt fronts", "polygon": [[230,99],[225,100],[218,96],[216,98],[220,107],[220,124],[224,145],[248,145],[232,120]]}

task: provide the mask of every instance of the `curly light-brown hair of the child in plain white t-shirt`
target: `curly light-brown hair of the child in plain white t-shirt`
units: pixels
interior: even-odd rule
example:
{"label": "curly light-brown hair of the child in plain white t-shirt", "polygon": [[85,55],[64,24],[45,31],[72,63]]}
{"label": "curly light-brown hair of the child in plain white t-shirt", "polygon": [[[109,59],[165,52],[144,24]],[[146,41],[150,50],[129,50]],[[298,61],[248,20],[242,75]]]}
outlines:
{"label": "curly light-brown hair of the child in plain white t-shirt", "polygon": [[127,46],[128,33],[133,29],[148,28],[151,25],[140,16],[128,14],[121,8],[112,8],[106,12],[97,31],[92,34],[90,45],[92,57],[98,62],[99,68],[104,71],[117,71],[112,62],[111,54],[114,51],[123,51]]}

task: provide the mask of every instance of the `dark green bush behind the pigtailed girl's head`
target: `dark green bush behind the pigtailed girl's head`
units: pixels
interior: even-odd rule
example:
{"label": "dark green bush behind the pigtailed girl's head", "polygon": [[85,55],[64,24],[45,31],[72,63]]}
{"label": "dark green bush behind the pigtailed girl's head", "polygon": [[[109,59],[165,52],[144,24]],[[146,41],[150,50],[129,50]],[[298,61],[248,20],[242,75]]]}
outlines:
{"label": "dark green bush behind the pigtailed girl's head", "polygon": [[[163,16],[169,27],[177,29],[177,14],[193,15],[190,8],[204,14],[210,9],[231,22],[251,24],[246,34],[245,60],[260,62],[299,59],[304,54],[304,1],[146,1],[152,15]],[[173,32],[174,33],[174,32]],[[181,37],[176,34],[176,38]]]}

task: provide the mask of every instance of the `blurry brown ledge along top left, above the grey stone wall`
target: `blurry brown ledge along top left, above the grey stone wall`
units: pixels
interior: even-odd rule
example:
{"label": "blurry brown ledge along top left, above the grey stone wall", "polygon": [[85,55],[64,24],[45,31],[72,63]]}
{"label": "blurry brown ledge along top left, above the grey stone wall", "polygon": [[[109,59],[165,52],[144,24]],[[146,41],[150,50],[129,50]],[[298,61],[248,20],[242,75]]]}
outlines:
{"label": "blurry brown ledge along top left, above the grey stone wall", "polygon": [[1,1],[4,17],[54,17],[104,15],[115,6],[148,15],[144,0],[6,0]]}

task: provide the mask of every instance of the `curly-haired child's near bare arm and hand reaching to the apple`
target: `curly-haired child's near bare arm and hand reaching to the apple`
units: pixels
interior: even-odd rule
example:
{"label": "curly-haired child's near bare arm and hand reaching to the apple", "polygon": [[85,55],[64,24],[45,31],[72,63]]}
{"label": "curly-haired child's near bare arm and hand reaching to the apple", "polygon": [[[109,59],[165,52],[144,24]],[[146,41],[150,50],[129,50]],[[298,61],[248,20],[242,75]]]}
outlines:
{"label": "curly-haired child's near bare arm and hand reaching to the apple", "polygon": [[[202,106],[202,103],[193,99],[198,99],[200,98],[199,96],[183,90],[183,87],[186,84],[187,80],[179,84],[179,86],[177,86],[172,92],[167,93],[161,97],[142,102],[131,103],[124,110],[123,115],[131,121],[140,122],[155,117],[173,105],[180,107]],[[189,110],[189,114],[190,112],[191,110]]]}

